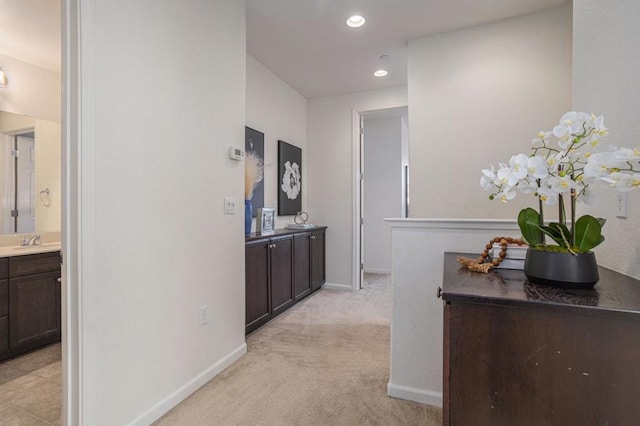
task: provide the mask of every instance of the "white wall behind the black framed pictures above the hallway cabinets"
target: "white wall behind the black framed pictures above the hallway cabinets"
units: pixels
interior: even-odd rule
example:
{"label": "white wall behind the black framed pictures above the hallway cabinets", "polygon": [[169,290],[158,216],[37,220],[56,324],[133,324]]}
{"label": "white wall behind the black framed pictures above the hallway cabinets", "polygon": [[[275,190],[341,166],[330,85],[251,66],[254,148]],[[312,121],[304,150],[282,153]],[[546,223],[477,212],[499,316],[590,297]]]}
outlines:
{"label": "white wall behind the black framed pictures above the hallway cabinets", "polygon": [[[278,140],[302,149],[302,210],[307,209],[307,100],[247,55],[247,126],[264,133],[264,205],[278,207]],[[255,219],[252,230],[255,231]],[[293,222],[278,216],[276,228]]]}

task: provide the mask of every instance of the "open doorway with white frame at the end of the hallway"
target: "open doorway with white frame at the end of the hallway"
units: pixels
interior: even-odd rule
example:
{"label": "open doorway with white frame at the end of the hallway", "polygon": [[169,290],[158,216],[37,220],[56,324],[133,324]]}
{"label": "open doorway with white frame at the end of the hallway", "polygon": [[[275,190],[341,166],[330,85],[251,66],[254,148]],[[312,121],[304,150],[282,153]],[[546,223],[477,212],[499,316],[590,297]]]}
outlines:
{"label": "open doorway with white frame at the end of the hallway", "polygon": [[391,273],[391,230],[385,218],[408,217],[408,111],[358,112],[354,197],[354,290],[364,273]]}

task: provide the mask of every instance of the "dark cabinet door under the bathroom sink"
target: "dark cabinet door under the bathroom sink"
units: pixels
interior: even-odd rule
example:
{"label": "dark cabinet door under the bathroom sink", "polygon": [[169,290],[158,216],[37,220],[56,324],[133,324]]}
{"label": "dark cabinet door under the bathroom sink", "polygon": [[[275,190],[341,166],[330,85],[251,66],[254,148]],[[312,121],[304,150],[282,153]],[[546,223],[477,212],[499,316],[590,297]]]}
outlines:
{"label": "dark cabinet door under the bathroom sink", "polygon": [[9,280],[9,345],[12,353],[60,339],[60,272]]}

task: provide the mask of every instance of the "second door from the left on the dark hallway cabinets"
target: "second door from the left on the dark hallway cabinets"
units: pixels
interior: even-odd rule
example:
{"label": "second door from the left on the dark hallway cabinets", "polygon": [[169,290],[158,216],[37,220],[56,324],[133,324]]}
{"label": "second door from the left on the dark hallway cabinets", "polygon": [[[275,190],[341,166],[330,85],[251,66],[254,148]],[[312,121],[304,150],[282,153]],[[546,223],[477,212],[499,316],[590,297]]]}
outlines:
{"label": "second door from the left on the dark hallway cabinets", "polygon": [[271,313],[293,304],[293,237],[271,240]]}

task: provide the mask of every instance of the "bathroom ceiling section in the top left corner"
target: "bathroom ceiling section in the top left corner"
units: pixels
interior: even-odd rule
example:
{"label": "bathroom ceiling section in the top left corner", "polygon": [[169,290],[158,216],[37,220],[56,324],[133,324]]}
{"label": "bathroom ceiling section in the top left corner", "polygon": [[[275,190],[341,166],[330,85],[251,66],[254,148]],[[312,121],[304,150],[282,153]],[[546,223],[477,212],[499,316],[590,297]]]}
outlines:
{"label": "bathroom ceiling section in the top left corner", "polygon": [[60,17],[60,0],[0,0],[0,53],[60,73]]}

